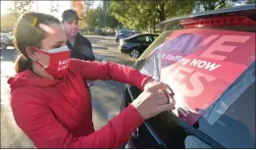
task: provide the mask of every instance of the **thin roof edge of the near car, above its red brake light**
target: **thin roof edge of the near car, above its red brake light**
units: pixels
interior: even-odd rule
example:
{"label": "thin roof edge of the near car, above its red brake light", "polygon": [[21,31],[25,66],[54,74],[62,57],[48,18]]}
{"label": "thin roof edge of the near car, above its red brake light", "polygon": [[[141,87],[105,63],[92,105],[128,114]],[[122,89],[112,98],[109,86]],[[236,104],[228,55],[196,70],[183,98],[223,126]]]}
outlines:
{"label": "thin roof edge of the near car, above its red brake light", "polygon": [[236,6],[236,7],[231,7],[231,8],[219,9],[219,10],[215,10],[215,11],[195,13],[195,14],[192,14],[189,16],[177,17],[177,18],[173,18],[171,20],[161,22],[160,24],[157,25],[157,28],[163,29],[165,27],[165,25],[167,25],[167,24],[178,25],[179,21],[184,20],[184,19],[202,18],[202,17],[212,16],[212,15],[219,15],[219,14],[225,14],[225,13],[230,13],[230,12],[240,12],[240,11],[245,11],[245,10],[255,10],[255,4],[242,5],[242,6]]}

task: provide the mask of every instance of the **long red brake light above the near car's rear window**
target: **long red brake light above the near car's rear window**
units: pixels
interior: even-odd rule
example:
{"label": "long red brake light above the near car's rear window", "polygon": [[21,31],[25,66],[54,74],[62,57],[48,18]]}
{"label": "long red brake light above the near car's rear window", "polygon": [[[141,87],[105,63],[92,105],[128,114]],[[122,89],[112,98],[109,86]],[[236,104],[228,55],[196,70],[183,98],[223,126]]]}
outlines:
{"label": "long red brake light above the near car's rear window", "polygon": [[184,28],[192,27],[223,27],[223,26],[255,26],[255,22],[243,17],[220,17],[211,19],[186,19],[180,22]]}

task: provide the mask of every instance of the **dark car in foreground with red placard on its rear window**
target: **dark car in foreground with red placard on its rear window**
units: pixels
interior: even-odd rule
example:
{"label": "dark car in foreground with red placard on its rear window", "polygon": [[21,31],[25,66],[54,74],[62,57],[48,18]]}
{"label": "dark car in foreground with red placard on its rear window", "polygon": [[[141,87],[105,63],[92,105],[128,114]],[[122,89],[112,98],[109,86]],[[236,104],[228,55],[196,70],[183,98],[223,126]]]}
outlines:
{"label": "dark car in foreground with red placard on its rear window", "polygon": [[[255,25],[255,4],[159,24],[133,68],[170,86],[176,110],[145,121],[127,147],[255,148]],[[121,110],[140,93],[127,84]]]}

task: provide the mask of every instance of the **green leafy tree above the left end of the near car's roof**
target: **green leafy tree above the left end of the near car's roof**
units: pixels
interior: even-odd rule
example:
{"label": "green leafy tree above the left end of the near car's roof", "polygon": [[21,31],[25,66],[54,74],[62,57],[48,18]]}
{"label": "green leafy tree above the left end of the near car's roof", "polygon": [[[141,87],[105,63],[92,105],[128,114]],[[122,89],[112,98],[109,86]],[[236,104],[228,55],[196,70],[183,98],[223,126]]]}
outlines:
{"label": "green leafy tree above the left end of the near car's roof", "polygon": [[112,1],[111,13],[119,22],[136,30],[155,32],[155,25],[172,17],[190,14],[193,0]]}

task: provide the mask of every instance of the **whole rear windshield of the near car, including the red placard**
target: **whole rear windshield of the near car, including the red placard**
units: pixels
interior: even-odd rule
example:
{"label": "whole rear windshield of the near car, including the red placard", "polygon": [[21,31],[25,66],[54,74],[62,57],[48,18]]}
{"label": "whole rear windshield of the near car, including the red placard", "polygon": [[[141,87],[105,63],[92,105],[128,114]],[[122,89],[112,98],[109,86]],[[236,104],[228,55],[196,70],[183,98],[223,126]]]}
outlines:
{"label": "whole rear windshield of the near car, including the red placard", "polygon": [[255,147],[255,33],[168,30],[135,68],[174,89],[183,121],[225,147]]}

